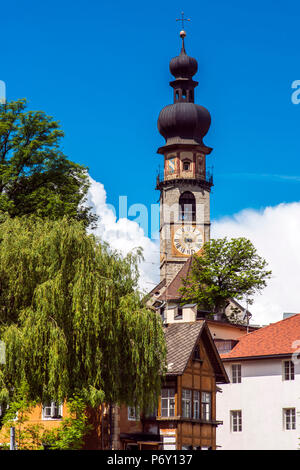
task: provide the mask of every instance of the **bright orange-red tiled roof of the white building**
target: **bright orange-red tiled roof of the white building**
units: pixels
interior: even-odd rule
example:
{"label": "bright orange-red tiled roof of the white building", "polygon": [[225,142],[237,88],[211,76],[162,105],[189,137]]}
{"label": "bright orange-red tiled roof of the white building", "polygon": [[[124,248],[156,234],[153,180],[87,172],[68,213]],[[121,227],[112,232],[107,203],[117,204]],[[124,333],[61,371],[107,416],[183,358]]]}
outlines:
{"label": "bright orange-red tiled roof of the white building", "polygon": [[221,358],[236,359],[257,356],[293,354],[300,340],[300,314],[295,314],[257,331],[242,336],[238,344]]}

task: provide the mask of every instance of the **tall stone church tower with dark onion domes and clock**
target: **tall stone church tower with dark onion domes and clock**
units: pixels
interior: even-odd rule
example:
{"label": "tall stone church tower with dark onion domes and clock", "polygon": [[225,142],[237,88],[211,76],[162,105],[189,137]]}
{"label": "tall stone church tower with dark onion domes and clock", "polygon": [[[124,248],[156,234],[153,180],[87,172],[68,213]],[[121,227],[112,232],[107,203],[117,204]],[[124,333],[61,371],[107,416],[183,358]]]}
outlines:
{"label": "tall stone church tower with dark onion domes and clock", "polygon": [[160,191],[160,278],[168,285],[187,259],[199,253],[210,238],[210,190],[212,174],[206,156],[212,151],[203,143],[211,118],[195,104],[198,82],[196,59],[185,51],[185,31],[180,32],[182,48],[170,62],[174,80],[173,104],[165,106],[158,118],[158,130],[165,145],[157,150],[164,156],[163,173],[157,176]]}

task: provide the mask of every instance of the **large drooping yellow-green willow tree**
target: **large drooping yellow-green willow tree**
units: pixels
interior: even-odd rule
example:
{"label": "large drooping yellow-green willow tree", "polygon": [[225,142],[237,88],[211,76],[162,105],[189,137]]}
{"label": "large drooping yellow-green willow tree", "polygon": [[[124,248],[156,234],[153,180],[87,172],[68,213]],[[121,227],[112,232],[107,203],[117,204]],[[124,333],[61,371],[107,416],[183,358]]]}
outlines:
{"label": "large drooping yellow-green willow tree", "polygon": [[84,224],[8,218],[0,224],[0,399],[153,406],[165,343],[136,290],[139,254],[122,257]]}

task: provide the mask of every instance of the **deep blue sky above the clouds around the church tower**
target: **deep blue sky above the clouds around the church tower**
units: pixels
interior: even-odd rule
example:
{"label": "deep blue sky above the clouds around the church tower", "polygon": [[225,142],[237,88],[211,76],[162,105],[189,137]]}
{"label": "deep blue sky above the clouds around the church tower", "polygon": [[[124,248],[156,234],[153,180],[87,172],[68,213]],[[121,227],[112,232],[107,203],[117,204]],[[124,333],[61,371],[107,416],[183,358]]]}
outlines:
{"label": "deep blue sky above the clouds around the church tower", "polygon": [[61,122],[65,153],[104,184],[109,203],[159,197],[156,123],[172,101],[182,10],[196,102],[212,115],[212,218],[300,199],[299,2],[11,0],[1,10],[7,98]]}

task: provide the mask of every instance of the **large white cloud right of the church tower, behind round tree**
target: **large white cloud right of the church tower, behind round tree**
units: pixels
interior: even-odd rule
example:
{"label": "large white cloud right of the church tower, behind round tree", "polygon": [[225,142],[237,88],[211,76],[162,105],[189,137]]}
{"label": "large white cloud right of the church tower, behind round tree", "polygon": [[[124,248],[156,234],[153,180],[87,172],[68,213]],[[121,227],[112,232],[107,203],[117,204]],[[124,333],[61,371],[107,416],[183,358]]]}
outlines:
{"label": "large white cloud right of the church tower, behind round tree", "polygon": [[300,312],[300,202],[251,209],[212,223],[212,237],[246,237],[272,270],[250,310],[252,322],[268,324],[283,312]]}

